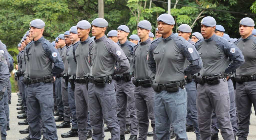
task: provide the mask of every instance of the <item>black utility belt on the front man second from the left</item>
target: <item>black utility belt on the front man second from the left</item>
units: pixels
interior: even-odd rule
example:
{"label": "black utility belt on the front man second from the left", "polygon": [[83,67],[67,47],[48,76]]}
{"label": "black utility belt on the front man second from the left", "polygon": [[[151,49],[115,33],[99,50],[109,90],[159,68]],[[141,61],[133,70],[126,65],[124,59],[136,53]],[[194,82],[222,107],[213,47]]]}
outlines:
{"label": "black utility belt on the front man second from the left", "polygon": [[88,81],[94,83],[96,86],[105,86],[105,84],[110,84],[112,82],[112,76],[106,77],[88,77]]}

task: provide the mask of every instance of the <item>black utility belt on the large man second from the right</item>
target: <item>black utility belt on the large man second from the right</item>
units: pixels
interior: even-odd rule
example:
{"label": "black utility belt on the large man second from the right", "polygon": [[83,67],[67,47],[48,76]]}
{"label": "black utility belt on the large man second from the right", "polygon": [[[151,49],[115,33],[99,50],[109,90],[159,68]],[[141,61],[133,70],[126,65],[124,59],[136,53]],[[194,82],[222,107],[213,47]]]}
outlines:
{"label": "black utility belt on the large man second from the right", "polygon": [[219,73],[217,75],[211,75],[211,76],[196,76],[195,80],[196,83],[199,83],[201,85],[208,83],[209,85],[214,85],[220,82],[219,79],[223,79],[223,81],[226,81],[227,79],[224,76],[224,73]]}

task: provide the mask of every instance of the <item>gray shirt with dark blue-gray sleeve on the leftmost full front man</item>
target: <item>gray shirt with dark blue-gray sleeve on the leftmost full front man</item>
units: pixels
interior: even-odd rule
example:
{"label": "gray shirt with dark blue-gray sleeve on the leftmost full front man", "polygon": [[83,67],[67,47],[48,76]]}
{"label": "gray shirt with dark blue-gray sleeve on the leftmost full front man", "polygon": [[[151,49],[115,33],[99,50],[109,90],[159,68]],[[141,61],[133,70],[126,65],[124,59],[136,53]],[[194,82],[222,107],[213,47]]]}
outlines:
{"label": "gray shirt with dark blue-gray sleeve on the leftmost full front man", "polygon": [[[27,47],[26,47],[27,48]],[[64,64],[59,52],[43,36],[31,43],[27,48],[29,77],[32,79],[42,78],[53,73],[59,75],[64,70]],[[54,67],[52,68],[52,63]]]}

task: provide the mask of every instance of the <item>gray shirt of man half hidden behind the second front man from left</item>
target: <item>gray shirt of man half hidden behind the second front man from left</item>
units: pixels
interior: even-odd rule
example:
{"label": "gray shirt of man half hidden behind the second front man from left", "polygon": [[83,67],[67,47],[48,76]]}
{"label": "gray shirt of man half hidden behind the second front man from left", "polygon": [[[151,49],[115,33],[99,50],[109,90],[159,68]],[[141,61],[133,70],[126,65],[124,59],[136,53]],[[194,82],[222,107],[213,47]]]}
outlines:
{"label": "gray shirt of man half hidden behind the second front man from left", "polygon": [[78,78],[83,78],[84,75],[91,71],[91,65],[89,64],[88,60],[88,47],[91,42],[92,39],[88,36],[85,41],[80,41],[75,49],[75,57],[78,64],[76,77]]}

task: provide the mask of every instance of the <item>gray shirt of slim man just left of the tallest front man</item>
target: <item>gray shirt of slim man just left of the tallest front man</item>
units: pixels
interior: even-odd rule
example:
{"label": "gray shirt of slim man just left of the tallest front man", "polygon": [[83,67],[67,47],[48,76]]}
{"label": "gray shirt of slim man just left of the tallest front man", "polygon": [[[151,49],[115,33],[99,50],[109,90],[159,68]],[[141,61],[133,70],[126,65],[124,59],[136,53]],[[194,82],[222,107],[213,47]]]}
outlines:
{"label": "gray shirt of slim man just left of the tallest front man", "polygon": [[148,49],[151,44],[150,38],[144,42],[140,42],[134,47],[133,64],[134,64],[134,78],[137,80],[145,78],[153,78],[155,74],[150,71],[147,64]]}

